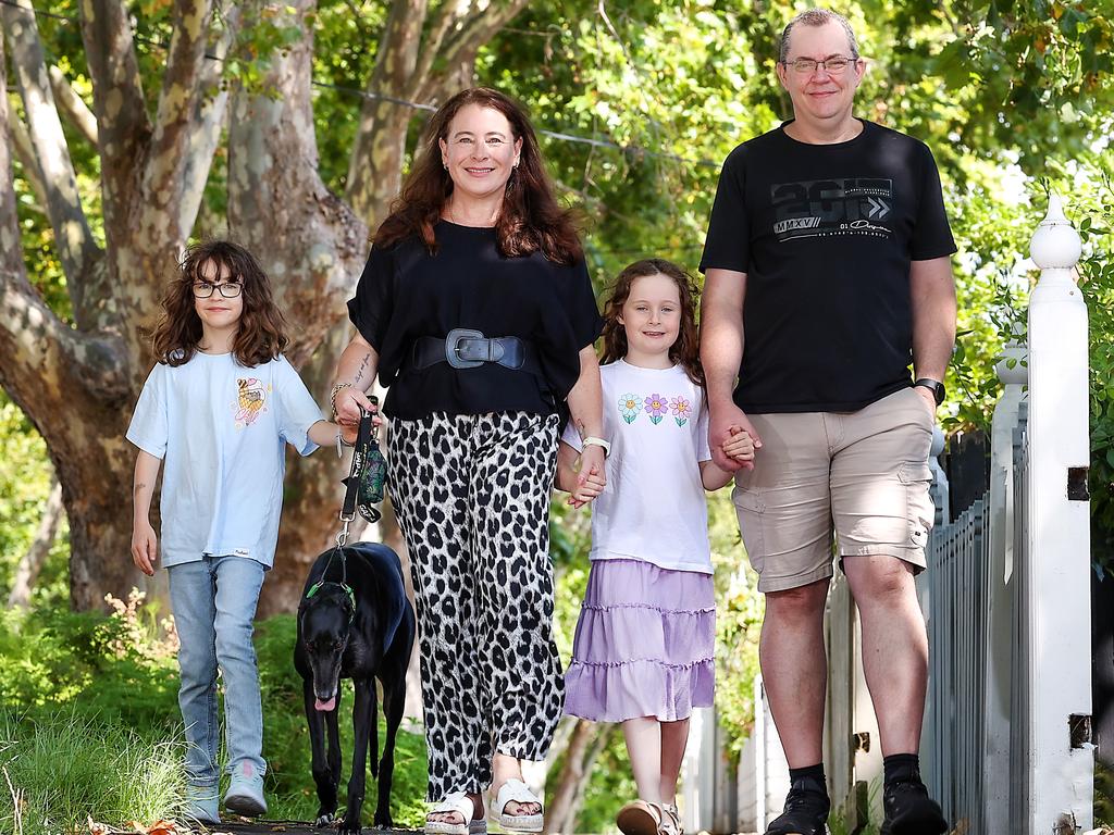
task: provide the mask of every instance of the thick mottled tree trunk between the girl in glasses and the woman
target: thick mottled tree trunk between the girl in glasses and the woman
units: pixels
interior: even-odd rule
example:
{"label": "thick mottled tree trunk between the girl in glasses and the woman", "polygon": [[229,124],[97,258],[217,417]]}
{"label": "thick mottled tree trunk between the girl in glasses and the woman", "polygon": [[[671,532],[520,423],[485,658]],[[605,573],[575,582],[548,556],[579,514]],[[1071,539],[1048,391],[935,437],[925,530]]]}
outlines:
{"label": "thick mottled tree trunk between the girl in glasses and the woman", "polygon": [[[301,26],[313,2],[301,0],[287,9],[287,22]],[[317,175],[312,27],[303,31],[300,41],[272,59],[265,94],[234,96],[228,226],[271,275],[291,323],[290,360],[328,409],[333,367],[348,336],[334,324],[363,267],[368,232]],[[314,348],[314,358],[305,362]],[[310,566],[336,536],[340,480],[346,474],[331,449],[305,459],[287,451],[278,550],[260,599],[261,616],[297,607]]]}

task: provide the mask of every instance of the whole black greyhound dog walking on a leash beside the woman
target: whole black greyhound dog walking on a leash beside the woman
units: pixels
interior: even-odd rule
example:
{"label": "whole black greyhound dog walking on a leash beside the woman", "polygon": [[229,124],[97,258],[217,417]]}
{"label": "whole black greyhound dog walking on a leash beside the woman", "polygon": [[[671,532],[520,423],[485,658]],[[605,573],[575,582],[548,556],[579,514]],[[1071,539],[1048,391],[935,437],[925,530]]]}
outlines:
{"label": "whole black greyhound dog walking on a leash beside the woman", "polygon": [[336,787],[341,778],[336,726],[341,678],[351,678],[355,687],[352,710],[355,750],[341,829],[360,832],[369,746],[371,773],[377,775],[377,678],[383,687],[387,743],[378,769],[379,802],[374,823],[377,827],[392,826],[394,737],[402,719],[414,631],[414,612],[407,600],[402,567],[394,551],[387,546],[356,542],[331,548],[317,557],[297,609],[297,644],[294,647],[294,667],[302,676],[305,717],[310,723],[313,780],[317,784],[321,803],[317,826],[332,823],[336,814]]}

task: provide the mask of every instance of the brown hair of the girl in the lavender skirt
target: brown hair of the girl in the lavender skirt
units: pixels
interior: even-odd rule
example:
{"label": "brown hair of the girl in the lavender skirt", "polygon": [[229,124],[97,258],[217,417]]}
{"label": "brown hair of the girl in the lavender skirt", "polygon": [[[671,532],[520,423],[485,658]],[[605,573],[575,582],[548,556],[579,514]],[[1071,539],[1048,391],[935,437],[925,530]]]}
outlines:
{"label": "brown hair of the girl in the lavender skirt", "polygon": [[696,385],[704,385],[704,369],[700,364],[700,341],[696,335],[696,299],[700,291],[696,282],[684,269],[664,258],[637,261],[615,279],[612,294],[604,302],[604,355],[602,363],[622,360],[627,353],[626,328],[619,322],[623,305],[631,296],[631,287],[636,278],[648,275],[664,275],[677,285],[681,298],[681,331],[677,341],[670,346],[670,360],[685,370]]}

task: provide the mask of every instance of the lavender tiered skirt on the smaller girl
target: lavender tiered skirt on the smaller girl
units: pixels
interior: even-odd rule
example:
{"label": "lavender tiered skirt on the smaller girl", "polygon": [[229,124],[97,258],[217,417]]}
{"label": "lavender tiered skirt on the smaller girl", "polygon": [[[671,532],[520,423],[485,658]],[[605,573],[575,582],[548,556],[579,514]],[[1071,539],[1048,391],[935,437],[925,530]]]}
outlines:
{"label": "lavender tiered skirt on the smaller girl", "polygon": [[715,690],[712,576],[597,560],[580,608],[565,713],[594,721],[687,719]]}

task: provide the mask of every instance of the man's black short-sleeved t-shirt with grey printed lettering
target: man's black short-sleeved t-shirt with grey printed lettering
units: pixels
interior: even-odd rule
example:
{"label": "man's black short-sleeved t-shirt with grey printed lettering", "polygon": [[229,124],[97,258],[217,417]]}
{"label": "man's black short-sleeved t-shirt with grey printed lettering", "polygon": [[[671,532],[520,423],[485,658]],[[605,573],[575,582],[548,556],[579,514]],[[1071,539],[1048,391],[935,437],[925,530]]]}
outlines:
{"label": "man's black short-sleeved t-shirt with grey printed lettering", "polygon": [[700,268],[746,273],[746,412],[851,412],[910,384],[909,263],[956,245],[928,146],[862,125],[837,145],[783,125],[723,165]]}

